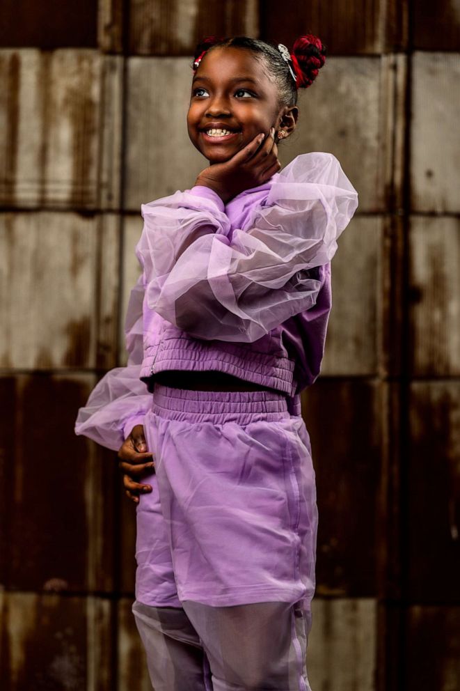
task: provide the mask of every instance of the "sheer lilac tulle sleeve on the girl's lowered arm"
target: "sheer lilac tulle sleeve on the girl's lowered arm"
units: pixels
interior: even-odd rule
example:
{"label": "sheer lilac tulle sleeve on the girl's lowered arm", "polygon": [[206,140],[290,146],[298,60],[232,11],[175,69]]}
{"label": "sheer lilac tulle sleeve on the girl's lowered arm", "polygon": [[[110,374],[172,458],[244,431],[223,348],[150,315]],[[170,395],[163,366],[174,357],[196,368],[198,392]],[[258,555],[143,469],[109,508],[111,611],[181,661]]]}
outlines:
{"label": "sheer lilac tulle sleeve on the girl's lowered arm", "polygon": [[116,367],[97,383],[85,407],[78,412],[75,433],[90,437],[103,447],[118,451],[123,441],[152,405],[144,382],[141,382],[142,362],[142,302],[143,276],[131,291],[125,320],[125,340],[128,351],[126,367]]}

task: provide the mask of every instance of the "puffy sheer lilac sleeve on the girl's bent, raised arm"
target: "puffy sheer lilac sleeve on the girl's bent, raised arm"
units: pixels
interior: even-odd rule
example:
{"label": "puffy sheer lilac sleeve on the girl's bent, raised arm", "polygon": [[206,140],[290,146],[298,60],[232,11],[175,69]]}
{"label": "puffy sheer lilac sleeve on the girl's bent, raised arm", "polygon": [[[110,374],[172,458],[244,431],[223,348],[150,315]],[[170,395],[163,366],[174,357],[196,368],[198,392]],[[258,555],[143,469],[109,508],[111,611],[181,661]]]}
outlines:
{"label": "puffy sheer lilac sleeve on the girl's bent, raised arm", "polygon": [[309,270],[331,261],[358,206],[333,154],[276,173],[244,230],[231,233],[220,198],[195,189],[142,205],[136,253],[151,309],[197,338],[252,343],[315,304]]}

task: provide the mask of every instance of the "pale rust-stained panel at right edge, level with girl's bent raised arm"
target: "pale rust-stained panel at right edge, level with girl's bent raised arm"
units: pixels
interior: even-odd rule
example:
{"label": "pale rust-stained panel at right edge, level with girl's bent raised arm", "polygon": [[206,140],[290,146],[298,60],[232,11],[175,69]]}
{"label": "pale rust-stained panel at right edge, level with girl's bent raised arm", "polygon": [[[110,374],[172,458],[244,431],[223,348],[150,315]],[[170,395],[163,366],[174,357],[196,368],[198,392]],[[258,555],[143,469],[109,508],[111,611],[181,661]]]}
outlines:
{"label": "pale rust-stained panel at right edge, level with girl's bent raised arm", "polygon": [[412,370],[460,374],[460,224],[454,217],[411,218]]}

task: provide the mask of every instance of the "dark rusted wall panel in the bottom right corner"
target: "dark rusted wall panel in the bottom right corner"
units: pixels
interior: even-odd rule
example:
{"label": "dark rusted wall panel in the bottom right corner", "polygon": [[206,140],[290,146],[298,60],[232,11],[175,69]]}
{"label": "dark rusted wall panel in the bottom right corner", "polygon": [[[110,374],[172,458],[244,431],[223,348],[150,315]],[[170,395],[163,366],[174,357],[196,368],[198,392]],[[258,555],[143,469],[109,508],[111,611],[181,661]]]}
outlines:
{"label": "dark rusted wall panel in the bottom right corner", "polygon": [[409,608],[405,651],[407,691],[460,688],[459,621],[458,606]]}

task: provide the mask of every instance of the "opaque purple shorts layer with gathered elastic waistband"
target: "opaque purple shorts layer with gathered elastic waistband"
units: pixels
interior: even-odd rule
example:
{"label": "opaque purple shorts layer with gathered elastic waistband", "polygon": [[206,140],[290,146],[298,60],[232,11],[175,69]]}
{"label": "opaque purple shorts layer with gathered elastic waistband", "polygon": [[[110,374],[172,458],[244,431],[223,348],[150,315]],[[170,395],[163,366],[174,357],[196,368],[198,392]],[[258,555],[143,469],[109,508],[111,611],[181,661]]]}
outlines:
{"label": "opaque purple shorts layer with gathered elastic waistband", "polygon": [[155,385],[155,472],[137,506],[136,599],[310,609],[317,504],[310,439],[275,391]]}

